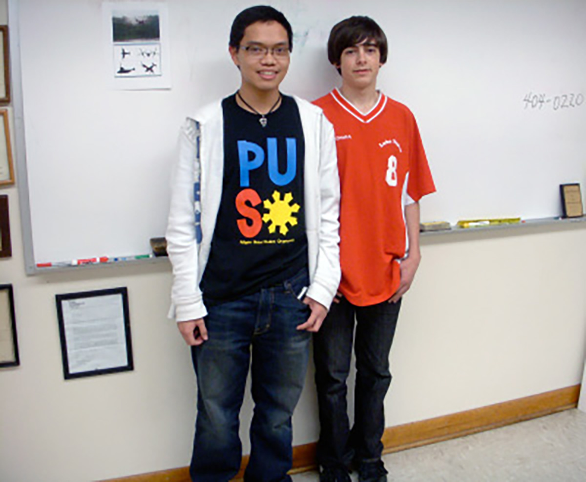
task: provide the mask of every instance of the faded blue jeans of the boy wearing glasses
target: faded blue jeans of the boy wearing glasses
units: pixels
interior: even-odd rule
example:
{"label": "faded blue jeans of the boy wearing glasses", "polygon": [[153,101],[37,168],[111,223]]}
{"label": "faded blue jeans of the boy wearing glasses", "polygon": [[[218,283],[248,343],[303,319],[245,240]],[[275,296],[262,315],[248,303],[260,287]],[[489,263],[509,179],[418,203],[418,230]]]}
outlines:
{"label": "faded blue jeans of the boy wearing glasses", "polygon": [[228,481],[240,469],[239,413],[249,366],[254,415],[244,480],[291,480],[291,416],[304,385],[311,338],[295,329],[310,313],[297,294],[308,283],[304,270],[280,286],[208,304],[209,339],[192,347],[197,376],[190,465],[194,482]]}

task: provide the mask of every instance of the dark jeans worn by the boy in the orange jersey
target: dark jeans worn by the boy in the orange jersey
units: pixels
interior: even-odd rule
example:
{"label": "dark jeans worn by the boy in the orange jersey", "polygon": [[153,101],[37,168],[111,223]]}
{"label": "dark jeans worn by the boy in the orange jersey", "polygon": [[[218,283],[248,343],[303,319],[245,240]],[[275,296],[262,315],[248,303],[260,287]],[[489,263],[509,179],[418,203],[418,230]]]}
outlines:
{"label": "dark jeans worn by the boy in the orange jersey", "polygon": [[[379,460],[384,432],[384,397],[391,383],[389,354],[401,301],[354,306],[346,298],[332,307],[314,335],[315,382],[321,432],[318,463],[349,466]],[[356,320],[354,425],[350,431],[346,379]]]}

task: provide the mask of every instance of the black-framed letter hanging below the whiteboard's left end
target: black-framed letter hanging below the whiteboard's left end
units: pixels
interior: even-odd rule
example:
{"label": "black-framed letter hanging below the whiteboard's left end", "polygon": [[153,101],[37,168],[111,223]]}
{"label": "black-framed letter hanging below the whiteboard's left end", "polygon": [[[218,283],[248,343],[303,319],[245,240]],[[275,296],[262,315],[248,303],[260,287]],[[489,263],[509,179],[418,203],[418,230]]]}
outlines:
{"label": "black-framed letter hanging below the whiteboard's left end", "polygon": [[55,298],[66,380],[134,369],[127,288]]}

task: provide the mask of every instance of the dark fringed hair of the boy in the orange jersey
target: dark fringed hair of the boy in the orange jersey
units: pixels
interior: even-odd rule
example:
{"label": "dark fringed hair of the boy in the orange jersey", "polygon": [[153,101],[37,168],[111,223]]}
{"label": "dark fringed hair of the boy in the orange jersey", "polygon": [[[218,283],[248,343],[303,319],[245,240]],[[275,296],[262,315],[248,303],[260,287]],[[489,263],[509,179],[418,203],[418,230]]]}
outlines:
{"label": "dark fringed hair of the boy in the orange jersey", "polygon": [[372,40],[379,47],[380,63],[386,63],[389,52],[387,36],[372,18],[361,15],[351,16],[332,27],[328,39],[328,60],[332,65],[340,65],[344,49],[353,47],[364,40]]}

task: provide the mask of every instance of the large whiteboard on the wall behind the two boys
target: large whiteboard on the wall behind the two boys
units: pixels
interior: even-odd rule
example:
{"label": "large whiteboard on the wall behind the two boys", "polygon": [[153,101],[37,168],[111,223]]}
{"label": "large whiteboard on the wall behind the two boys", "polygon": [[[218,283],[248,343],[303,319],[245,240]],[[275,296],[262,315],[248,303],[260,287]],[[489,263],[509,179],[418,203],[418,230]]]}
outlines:
{"label": "large whiteboard on the wall behind the two boys", "polygon": [[[254,2],[163,3],[171,88],[123,91],[108,77],[100,1],[9,2],[29,272],[150,252],[165,233],[180,124],[240,84],[229,30]],[[335,22],[369,15],[385,30],[379,87],[413,110],[438,188],[422,220],[557,216],[558,185],[586,186],[586,2],[268,3],[294,28],[281,90],[310,100],[339,83],[326,56]]]}

